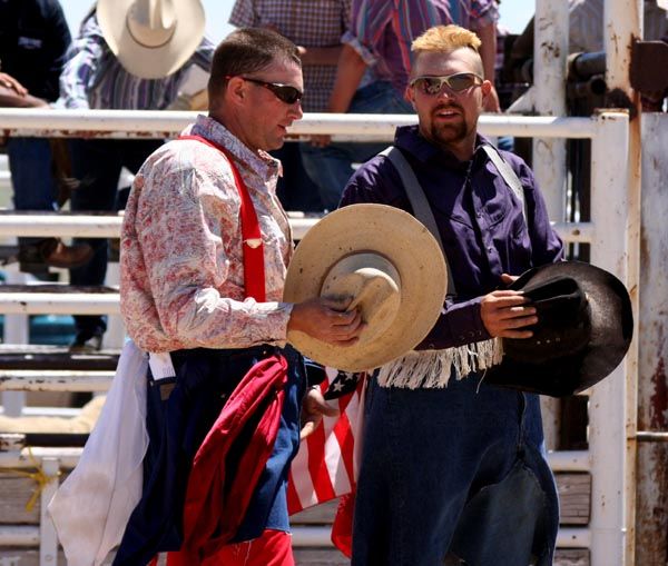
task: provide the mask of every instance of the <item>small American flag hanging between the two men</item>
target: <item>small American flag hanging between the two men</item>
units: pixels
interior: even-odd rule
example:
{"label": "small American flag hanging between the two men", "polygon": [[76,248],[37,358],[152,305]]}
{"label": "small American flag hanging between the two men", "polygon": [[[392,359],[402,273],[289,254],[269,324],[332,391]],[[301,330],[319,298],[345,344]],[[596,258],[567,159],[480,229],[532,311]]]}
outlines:
{"label": "small American flag hanging between the two men", "polygon": [[[312,366],[310,370],[314,370]],[[291,515],[350,494],[355,487],[355,435],[361,427],[364,374],[320,368],[321,391],[340,410],[324,417],[299,446],[292,463],[287,507]]]}

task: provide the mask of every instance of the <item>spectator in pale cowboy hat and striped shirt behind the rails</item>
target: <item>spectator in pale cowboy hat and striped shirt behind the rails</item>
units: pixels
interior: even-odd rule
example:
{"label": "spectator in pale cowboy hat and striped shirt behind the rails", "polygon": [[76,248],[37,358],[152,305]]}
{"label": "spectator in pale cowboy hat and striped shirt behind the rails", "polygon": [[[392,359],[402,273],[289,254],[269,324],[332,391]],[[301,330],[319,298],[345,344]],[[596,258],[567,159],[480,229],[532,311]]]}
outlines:
{"label": "spectator in pale cowboy hat and striped shirt behind the rails", "polygon": [[[178,26],[176,22],[178,21]],[[149,22],[149,23],[147,23]],[[208,71],[214,44],[204,38],[199,0],[100,0],[81,23],[60,79],[59,105],[72,109],[163,110],[177,97],[187,69]],[[121,169],[136,173],[161,140],[73,139],[71,157],[80,181],[73,211],[110,211]],[[82,239],[95,256],[70,270],[73,285],[102,285],[107,241]],[[72,350],[96,350],[107,325],[101,316],[75,316]]]}

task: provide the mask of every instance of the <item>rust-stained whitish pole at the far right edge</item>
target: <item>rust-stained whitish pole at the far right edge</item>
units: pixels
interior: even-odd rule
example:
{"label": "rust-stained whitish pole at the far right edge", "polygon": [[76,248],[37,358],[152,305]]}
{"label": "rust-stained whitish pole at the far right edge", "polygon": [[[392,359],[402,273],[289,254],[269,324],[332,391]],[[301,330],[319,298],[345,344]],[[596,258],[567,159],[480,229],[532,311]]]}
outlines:
{"label": "rust-stained whitish pole at the far right edge", "polygon": [[[642,269],[638,320],[638,428],[668,430],[668,115],[642,115]],[[668,445],[638,446],[636,560],[661,564],[668,553]]]}

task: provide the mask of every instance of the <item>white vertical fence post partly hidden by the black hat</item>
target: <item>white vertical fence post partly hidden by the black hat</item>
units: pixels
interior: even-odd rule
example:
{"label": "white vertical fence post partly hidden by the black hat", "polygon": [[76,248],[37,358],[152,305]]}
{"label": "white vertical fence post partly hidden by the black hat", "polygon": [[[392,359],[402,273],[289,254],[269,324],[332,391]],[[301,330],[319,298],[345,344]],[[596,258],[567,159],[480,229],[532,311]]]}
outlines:
{"label": "white vertical fence post partly hidden by the black hat", "polygon": [[[606,112],[598,117],[599,135],[591,145],[591,210],[595,230],[591,262],[628,285],[629,195],[628,116]],[[589,451],[591,458],[591,566],[625,564],[627,485],[627,380],[632,351],[610,377],[591,389]]]}

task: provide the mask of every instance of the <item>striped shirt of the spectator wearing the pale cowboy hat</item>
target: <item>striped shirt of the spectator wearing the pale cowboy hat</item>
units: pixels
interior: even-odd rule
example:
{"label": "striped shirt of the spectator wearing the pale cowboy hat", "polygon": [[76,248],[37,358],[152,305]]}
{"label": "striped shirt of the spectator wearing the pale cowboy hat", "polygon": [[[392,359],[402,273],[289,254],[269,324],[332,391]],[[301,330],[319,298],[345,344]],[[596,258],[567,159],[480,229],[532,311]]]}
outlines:
{"label": "striped shirt of the spectator wearing the pale cowboy hat", "polygon": [[164,110],[177,97],[191,64],[209,70],[215,46],[206,38],[176,72],[164,79],[130,75],[114,56],[102,37],[95,13],[81,24],[60,76],[60,108]]}

